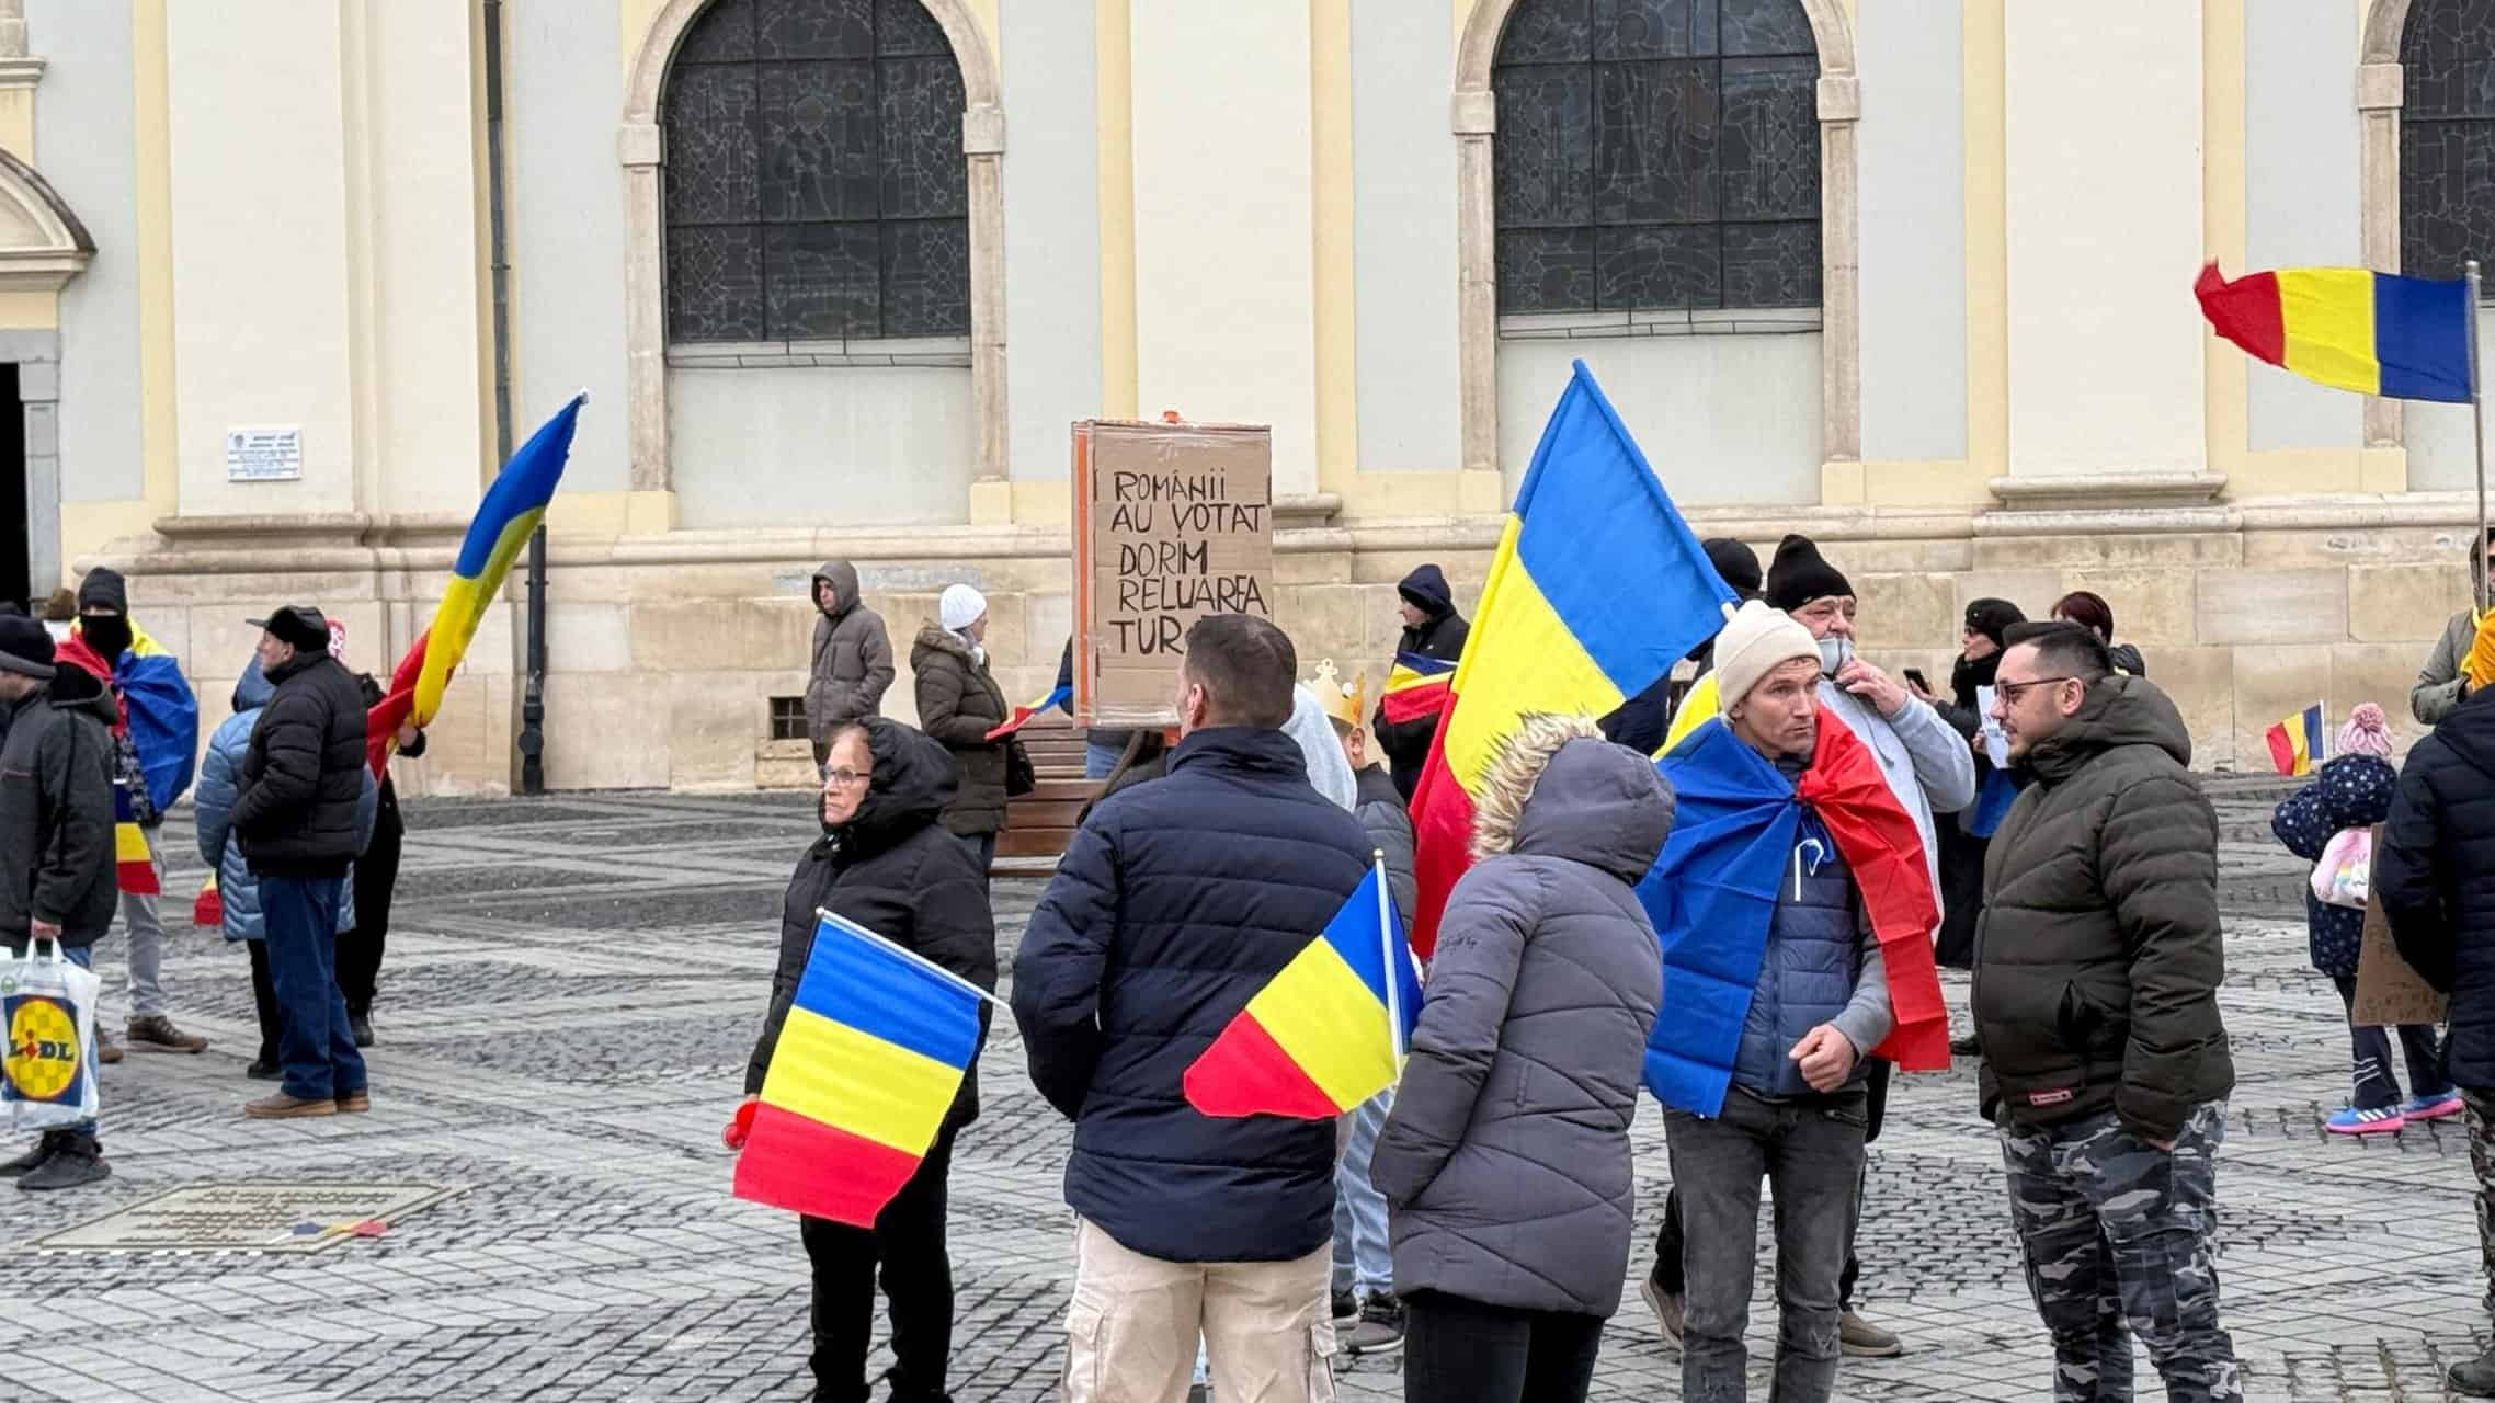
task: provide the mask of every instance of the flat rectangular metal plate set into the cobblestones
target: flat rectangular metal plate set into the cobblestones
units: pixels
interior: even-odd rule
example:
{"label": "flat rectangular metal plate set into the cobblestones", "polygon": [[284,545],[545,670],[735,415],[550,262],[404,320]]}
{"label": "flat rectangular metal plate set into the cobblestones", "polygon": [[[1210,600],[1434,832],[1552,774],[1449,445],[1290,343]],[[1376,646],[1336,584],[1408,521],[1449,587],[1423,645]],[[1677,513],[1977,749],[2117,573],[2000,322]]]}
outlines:
{"label": "flat rectangular metal plate set into the cobblestones", "polygon": [[197,1183],[62,1228],[35,1248],[317,1253],[377,1238],[452,1193],[459,1188],[439,1183]]}

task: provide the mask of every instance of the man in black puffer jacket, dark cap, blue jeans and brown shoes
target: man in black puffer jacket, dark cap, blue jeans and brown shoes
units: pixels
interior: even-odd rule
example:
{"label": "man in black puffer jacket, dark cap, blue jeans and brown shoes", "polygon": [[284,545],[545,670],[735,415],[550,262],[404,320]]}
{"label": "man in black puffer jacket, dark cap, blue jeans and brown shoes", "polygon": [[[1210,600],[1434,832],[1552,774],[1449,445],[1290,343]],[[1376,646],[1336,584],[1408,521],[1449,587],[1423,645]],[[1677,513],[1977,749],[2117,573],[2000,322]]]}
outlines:
{"label": "man in black puffer jacket, dark cap, blue jeans and brown shoes", "polygon": [[364,1053],[337,991],[337,901],[362,851],[364,694],[329,657],[329,622],[292,604],[252,619],[259,674],[277,687],[259,709],[235,791],[235,841],[259,879],[269,984],[277,989],[277,1096],[254,1121],[367,1111]]}

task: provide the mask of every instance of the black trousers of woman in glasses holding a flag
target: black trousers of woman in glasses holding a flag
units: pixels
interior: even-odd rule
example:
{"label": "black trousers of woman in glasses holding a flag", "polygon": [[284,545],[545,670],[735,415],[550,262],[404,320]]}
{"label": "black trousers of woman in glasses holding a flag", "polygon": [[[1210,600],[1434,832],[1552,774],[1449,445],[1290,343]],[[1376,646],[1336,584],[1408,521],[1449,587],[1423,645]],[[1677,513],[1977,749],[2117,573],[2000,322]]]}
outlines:
{"label": "black trousers of woman in glasses holding a flag", "polygon": [[883,1206],[873,1228],[798,1218],[813,1261],[813,1386],[818,1403],[868,1403],[866,1348],[876,1331],[876,1281],[893,1316],[893,1401],[938,1403],[953,1353],[953,1258],[946,1251],[946,1176],[953,1131]]}

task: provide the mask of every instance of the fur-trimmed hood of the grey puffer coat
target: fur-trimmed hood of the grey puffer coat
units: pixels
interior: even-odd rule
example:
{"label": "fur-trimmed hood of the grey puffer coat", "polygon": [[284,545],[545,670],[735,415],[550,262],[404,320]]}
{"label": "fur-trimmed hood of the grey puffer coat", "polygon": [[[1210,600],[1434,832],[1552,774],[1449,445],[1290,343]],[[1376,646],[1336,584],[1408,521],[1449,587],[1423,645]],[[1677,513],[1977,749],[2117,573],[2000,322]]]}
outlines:
{"label": "fur-trimmed hood of the grey puffer coat", "polygon": [[1669,834],[1672,786],[1649,759],[1592,716],[1534,714],[1482,776],[1472,856],[1564,856],[1634,884]]}

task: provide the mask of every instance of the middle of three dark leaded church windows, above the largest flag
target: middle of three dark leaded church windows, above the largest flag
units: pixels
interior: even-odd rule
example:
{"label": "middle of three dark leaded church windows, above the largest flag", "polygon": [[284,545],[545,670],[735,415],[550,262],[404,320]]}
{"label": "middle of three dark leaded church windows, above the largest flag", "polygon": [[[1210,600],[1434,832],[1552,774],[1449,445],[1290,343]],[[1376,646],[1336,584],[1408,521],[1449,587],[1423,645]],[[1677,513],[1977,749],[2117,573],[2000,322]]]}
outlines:
{"label": "middle of three dark leaded church windows, above the largest flag", "polygon": [[1816,85],[1801,0],[1522,0],[1490,70],[1499,310],[1816,307]]}

